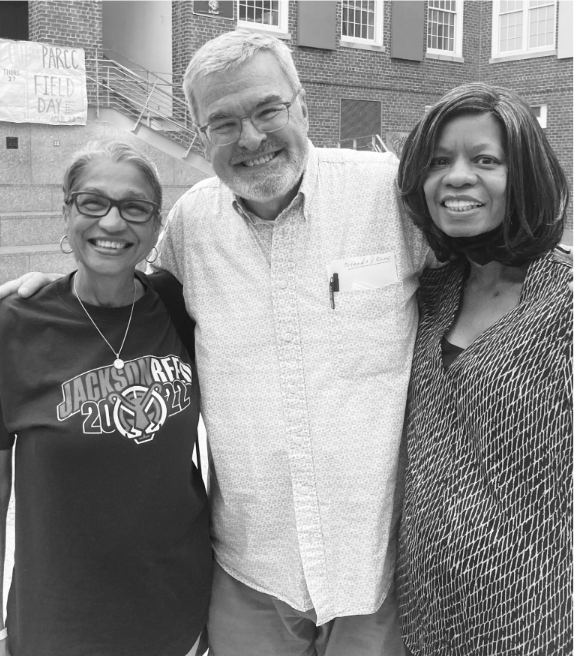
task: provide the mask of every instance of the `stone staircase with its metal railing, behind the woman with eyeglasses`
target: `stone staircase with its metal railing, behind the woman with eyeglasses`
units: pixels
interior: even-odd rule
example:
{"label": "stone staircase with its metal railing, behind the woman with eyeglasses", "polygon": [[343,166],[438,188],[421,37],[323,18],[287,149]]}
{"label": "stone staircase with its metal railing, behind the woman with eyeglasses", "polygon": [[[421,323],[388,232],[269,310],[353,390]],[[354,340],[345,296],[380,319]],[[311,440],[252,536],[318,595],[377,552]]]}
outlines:
{"label": "stone staircase with its metal railing, behind the woman with eyeglasses", "polygon": [[108,58],[89,63],[88,92],[95,103],[85,126],[0,121],[2,134],[18,141],[16,149],[4,149],[0,141],[0,284],[28,271],[76,268],[73,255],[59,248],[62,174],[88,141],[120,139],[148,155],[163,185],[164,215],[187,189],[213,175],[171,83]]}

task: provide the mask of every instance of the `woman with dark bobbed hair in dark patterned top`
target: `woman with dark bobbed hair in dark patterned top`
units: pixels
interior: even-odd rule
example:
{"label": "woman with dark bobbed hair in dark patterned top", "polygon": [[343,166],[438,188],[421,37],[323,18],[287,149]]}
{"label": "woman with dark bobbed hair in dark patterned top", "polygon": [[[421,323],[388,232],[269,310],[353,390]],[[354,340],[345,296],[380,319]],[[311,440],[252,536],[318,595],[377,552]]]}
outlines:
{"label": "woman with dark bobbed hair in dark patterned top", "polygon": [[399,186],[442,267],[418,291],[398,558],[412,654],[572,649],[568,186],[514,93],[467,84],[411,133]]}

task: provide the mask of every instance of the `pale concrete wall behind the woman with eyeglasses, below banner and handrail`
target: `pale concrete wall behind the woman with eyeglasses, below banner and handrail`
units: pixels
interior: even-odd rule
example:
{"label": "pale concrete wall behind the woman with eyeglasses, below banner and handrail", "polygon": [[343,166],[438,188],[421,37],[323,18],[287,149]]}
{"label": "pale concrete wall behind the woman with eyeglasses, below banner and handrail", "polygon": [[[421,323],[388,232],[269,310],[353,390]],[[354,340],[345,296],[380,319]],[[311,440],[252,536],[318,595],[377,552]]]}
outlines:
{"label": "pale concrete wall behind the woman with eyeglasses, below banner and handrail", "polygon": [[[18,150],[0,157],[0,283],[27,271],[69,271],[72,256],[62,255],[62,176],[72,154],[87,141],[128,141],[156,164],[163,184],[163,216],[175,201],[206,175],[137,137],[90,118],[86,126],[0,122],[0,144],[18,137]],[[56,142],[59,145],[56,145]]]}

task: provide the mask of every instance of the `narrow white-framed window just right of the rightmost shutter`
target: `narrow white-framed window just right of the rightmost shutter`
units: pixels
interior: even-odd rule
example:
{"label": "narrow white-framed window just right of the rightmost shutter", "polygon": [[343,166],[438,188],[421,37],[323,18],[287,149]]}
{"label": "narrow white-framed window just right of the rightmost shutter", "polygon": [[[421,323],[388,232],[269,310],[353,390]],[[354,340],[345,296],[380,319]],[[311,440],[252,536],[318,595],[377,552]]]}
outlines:
{"label": "narrow white-framed window just right of the rightmost shutter", "polygon": [[427,53],[462,57],[462,0],[429,0]]}

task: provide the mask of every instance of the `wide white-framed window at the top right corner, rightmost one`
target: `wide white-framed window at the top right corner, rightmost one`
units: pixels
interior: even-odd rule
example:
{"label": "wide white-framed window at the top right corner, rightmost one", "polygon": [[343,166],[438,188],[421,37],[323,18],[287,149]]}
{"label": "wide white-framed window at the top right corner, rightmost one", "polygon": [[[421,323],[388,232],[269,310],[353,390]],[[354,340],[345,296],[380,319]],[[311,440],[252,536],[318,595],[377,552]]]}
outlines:
{"label": "wide white-framed window at the top right corner, rightmost one", "polygon": [[556,1],[493,3],[492,56],[545,54],[555,48]]}

